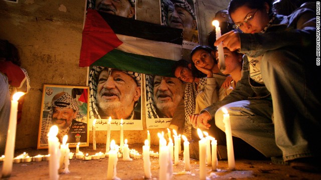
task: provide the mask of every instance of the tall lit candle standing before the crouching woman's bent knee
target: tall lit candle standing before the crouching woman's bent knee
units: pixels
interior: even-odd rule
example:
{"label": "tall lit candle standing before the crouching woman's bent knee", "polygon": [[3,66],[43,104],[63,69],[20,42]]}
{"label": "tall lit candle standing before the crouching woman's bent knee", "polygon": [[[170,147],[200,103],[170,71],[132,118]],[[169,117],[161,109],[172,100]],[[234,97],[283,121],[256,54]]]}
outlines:
{"label": "tall lit candle standing before the crouching woman's bent knee", "polygon": [[231,130],[231,122],[230,122],[230,114],[228,113],[225,107],[222,108],[223,114],[223,122],[225,124],[225,134],[226,134],[226,145],[227,145],[227,160],[229,164],[229,169],[235,169],[235,159],[234,159],[234,150],[233,150],[233,141],[232,141],[232,130]]}

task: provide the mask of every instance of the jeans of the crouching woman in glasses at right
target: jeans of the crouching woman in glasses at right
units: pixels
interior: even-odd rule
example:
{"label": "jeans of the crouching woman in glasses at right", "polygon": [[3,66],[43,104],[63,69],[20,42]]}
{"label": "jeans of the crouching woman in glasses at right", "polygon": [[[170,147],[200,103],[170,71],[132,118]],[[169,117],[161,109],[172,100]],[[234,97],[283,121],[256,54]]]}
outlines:
{"label": "jeans of the crouching woman in glasses at right", "polygon": [[[265,52],[261,74],[272,102],[250,99],[225,105],[230,113],[232,134],[267,157],[283,155],[285,161],[320,157],[321,89],[317,86],[321,81],[311,61],[303,61],[302,54],[292,49]],[[220,108],[215,122],[224,130],[222,120]]]}

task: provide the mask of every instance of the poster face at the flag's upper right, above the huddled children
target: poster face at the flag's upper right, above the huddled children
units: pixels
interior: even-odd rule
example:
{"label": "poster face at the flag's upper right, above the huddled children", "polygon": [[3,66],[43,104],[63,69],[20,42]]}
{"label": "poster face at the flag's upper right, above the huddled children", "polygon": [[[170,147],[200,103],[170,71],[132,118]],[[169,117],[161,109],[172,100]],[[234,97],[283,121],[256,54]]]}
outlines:
{"label": "poster face at the flag's upper right, above the huddled children", "polygon": [[196,27],[196,20],[185,8],[175,4],[168,6],[168,26],[184,29],[184,33],[193,32]]}

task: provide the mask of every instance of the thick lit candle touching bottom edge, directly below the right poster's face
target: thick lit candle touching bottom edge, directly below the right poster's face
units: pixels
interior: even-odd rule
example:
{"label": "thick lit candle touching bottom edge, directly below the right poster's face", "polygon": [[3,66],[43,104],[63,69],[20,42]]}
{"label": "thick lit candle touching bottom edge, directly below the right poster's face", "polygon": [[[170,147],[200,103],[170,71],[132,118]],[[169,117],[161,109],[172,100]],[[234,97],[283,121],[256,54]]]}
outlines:
{"label": "thick lit candle touching bottom edge, directly below the right poster's face", "polygon": [[169,148],[167,145],[162,145],[161,150],[159,151],[159,180],[170,179],[168,174],[168,169],[169,169]]}

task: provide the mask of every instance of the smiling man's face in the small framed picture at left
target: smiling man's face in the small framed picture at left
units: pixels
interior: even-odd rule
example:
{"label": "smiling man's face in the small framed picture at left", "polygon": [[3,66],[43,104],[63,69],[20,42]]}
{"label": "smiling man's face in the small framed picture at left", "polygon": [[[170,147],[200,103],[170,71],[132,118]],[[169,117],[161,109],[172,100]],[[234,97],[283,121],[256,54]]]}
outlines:
{"label": "smiling man's face in the small framed picture at left", "polygon": [[52,114],[52,123],[57,125],[59,129],[67,128],[72,119],[76,118],[77,112],[72,108],[54,107]]}

